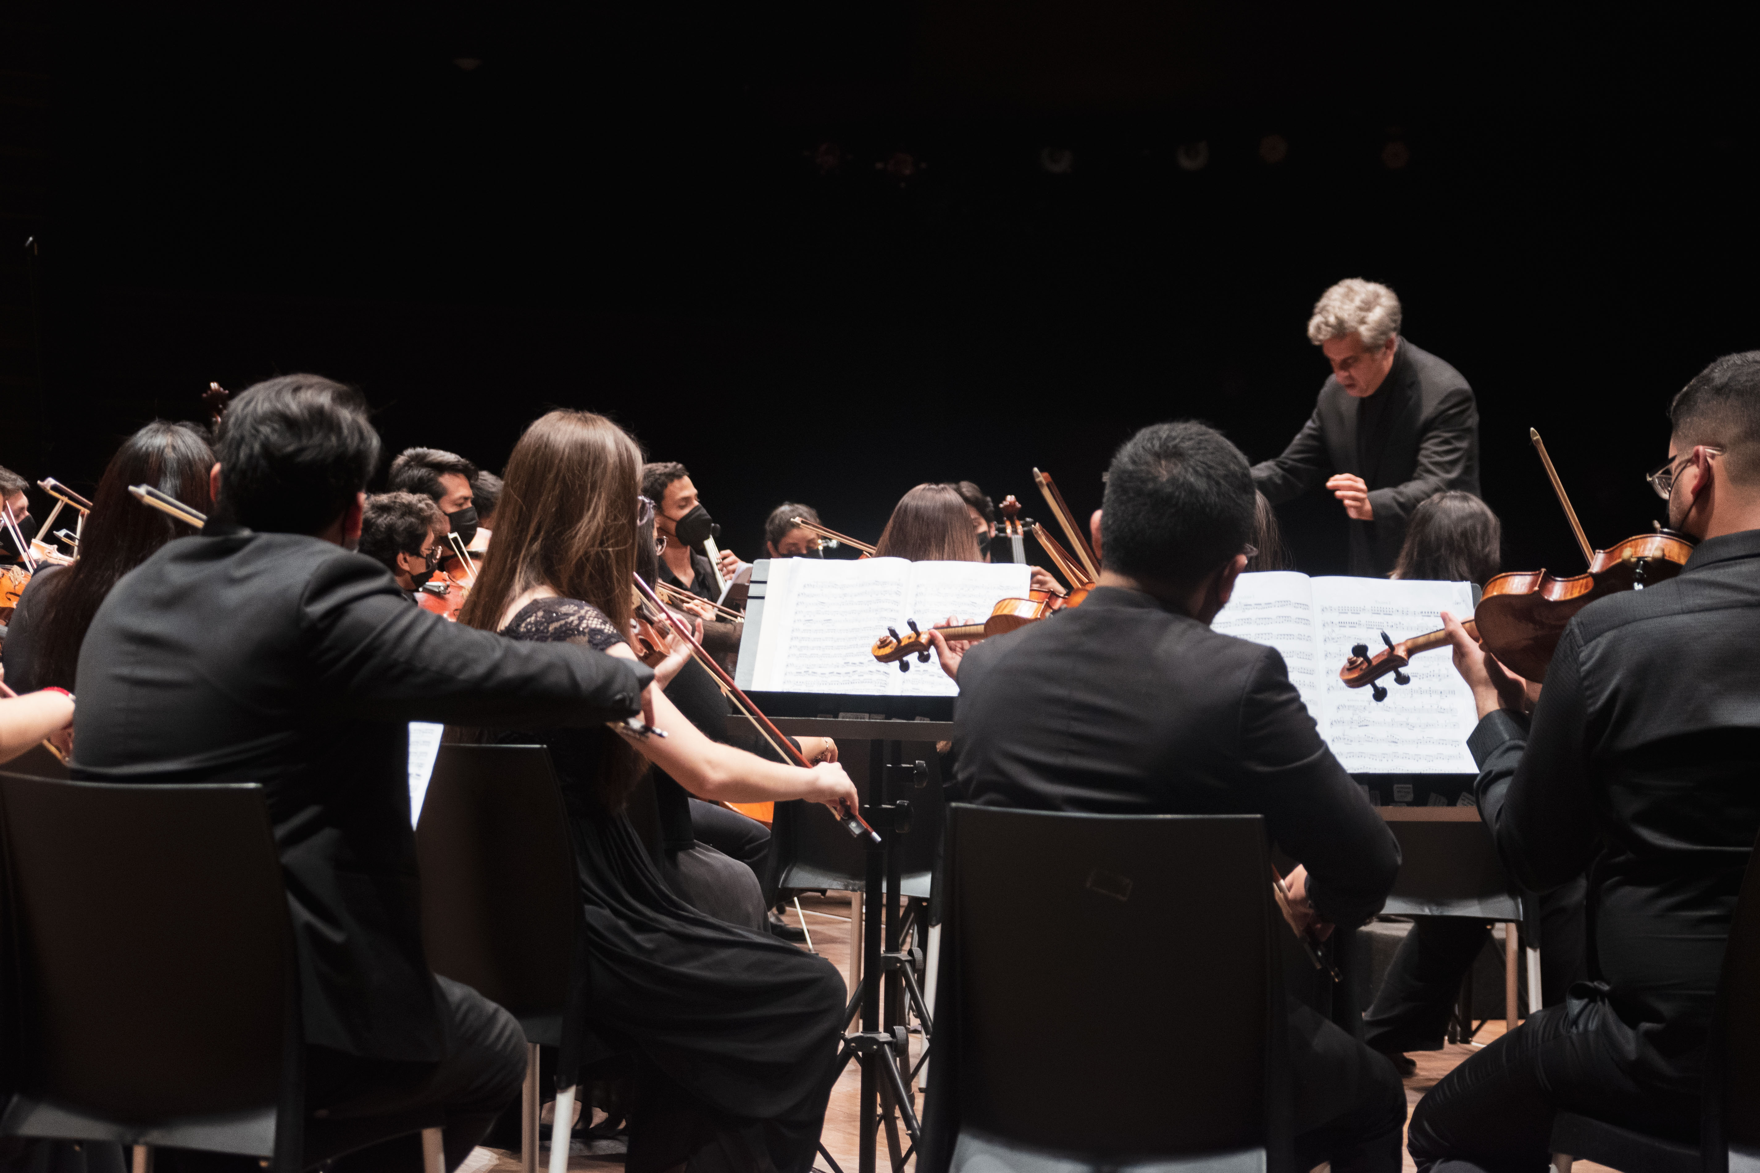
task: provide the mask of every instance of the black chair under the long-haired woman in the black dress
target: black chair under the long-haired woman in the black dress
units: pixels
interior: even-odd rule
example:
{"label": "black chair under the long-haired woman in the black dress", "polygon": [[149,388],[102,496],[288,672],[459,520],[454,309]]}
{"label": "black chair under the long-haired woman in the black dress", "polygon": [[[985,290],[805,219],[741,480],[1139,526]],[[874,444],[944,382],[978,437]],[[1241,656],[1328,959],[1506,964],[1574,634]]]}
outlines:
{"label": "black chair under the long-haired woman in the black dress", "polygon": [[526,1173],[539,1159],[539,1048],[560,1048],[551,1168],[567,1169],[586,944],[574,841],[549,751],[442,746],[415,849],[428,965],[500,1002],[526,1034],[519,1138]]}

